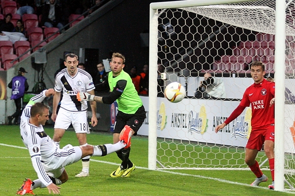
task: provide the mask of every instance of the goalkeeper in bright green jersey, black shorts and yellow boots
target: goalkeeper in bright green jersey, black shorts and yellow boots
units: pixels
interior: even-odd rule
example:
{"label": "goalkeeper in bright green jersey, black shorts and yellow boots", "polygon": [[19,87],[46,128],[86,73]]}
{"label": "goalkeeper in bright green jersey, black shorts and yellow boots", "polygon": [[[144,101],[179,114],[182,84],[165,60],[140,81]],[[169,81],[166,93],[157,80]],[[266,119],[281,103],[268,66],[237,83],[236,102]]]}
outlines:
{"label": "goalkeeper in bright green jersey, black shorts and yellow boots", "polygon": [[[100,88],[108,86],[111,94],[104,97],[97,97],[88,93],[78,93],[79,101],[94,100],[99,103],[112,104],[115,100],[118,102],[118,114],[114,127],[113,142],[119,141],[119,135],[125,129],[131,129],[132,135],[137,135],[138,129],[146,118],[146,111],[141,98],[138,96],[128,73],[123,71],[125,67],[125,57],[120,53],[113,53],[110,67],[112,72],[108,73],[104,83],[96,86]],[[111,177],[129,177],[135,170],[135,165],[129,159],[130,147],[117,151],[118,157],[122,160],[117,170],[111,173]]]}

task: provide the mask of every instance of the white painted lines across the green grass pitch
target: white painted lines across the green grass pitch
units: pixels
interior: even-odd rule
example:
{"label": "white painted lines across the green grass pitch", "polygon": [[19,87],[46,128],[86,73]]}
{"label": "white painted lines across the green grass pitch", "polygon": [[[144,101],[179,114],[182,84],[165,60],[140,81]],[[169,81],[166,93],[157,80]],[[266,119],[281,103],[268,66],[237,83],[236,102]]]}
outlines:
{"label": "white painted lines across the green grass pitch", "polygon": [[[27,149],[26,147],[18,147],[18,146],[6,145],[6,144],[1,144],[1,143],[0,143],[0,146]],[[28,158],[29,159],[29,157],[0,157],[0,158]],[[95,159],[90,159],[90,160],[91,161],[94,161],[94,162],[109,164],[109,165],[120,165],[118,163],[112,163],[112,162],[108,162],[108,161],[100,161],[100,160],[95,160]],[[148,168],[138,167],[138,166],[136,166],[136,169],[148,170]],[[165,172],[165,173],[171,173],[171,174],[183,175],[183,176],[193,176],[193,177],[197,177],[197,178],[203,178],[203,179],[208,179],[208,180],[215,180],[215,181],[219,181],[219,182],[223,182],[223,183],[228,183],[228,184],[235,184],[235,185],[240,185],[240,186],[251,187],[250,184],[232,182],[232,181],[229,181],[229,180],[224,180],[224,179],[220,179],[220,178],[213,178],[213,177],[207,177],[207,176],[203,176],[203,175],[194,175],[194,174],[187,174],[187,173],[179,173],[179,172],[172,172],[172,171],[167,171],[167,170],[156,170],[156,172]],[[268,190],[267,187],[259,187],[259,186],[257,186],[255,188]],[[283,192],[284,193],[295,194],[295,192],[293,192],[293,191],[283,191]]]}

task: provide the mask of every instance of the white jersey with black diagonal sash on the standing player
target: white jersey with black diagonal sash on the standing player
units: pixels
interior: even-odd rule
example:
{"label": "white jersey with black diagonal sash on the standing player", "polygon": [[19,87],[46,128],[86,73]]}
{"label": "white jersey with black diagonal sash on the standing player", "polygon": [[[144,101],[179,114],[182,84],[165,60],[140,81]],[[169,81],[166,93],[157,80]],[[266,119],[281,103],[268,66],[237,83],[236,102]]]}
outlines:
{"label": "white jersey with black diagonal sash on the standing player", "polygon": [[60,107],[69,112],[79,112],[87,110],[87,101],[78,101],[78,92],[89,92],[94,90],[92,77],[89,73],[79,68],[74,76],[70,76],[66,68],[61,70],[56,76],[54,90],[63,92]]}

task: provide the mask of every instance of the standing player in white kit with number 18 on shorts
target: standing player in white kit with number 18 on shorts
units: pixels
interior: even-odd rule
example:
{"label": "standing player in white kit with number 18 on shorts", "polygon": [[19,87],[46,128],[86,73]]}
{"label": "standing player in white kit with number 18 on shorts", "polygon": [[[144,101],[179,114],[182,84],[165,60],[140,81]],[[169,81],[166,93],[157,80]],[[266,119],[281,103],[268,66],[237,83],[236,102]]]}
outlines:
{"label": "standing player in white kit with number 18 on shorts", "polygon": [[[53,141],[60,142],[65,130],[72,123],[79,145],[87,145],[86,133],[89,133],[89,125],[87,121],[87,101],[78,101],[76,95],[78,92],[88,92],[94,95],[94,84],[92,77],[86,71],[77,68],[79,64],[78,56],[74,53],[65,55],[65,69],[61,70],[56,76],[56,91],[53,99],[53,114],[51,119],[55,122]],[[57,108],[61,96],[59,113]],[[96,118],[96,102],[90,102],[92,117],[91,125],[97,124]],[[89,176],[89,159],[90,156],[82,159],[82,172],[76,177]]]}

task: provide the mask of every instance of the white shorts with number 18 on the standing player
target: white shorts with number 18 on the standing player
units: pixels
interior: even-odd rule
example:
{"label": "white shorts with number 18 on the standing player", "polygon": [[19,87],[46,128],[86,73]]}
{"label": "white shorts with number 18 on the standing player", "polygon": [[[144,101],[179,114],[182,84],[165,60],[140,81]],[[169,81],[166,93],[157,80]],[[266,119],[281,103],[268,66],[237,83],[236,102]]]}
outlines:
{"label": "white shorts with number 18 on the standing player", "polygon": [[87,111],[69,112],[63,108],[59,108],[54,128],[68,129],[71,123],[76,133],[89,133]]}

